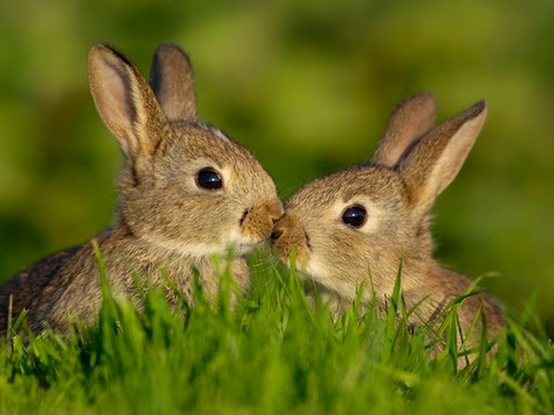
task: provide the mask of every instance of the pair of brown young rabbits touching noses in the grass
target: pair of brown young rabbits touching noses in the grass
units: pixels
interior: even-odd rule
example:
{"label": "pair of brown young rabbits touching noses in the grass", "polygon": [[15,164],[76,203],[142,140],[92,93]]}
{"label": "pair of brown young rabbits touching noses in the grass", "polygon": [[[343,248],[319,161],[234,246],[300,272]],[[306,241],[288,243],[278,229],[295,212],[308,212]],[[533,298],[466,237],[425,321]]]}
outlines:
{"label": "pair of brown young rabbits touching noses in the grass", "polygon": [[[89,77],[96,108],[124,153],[114,225],[0,288],[0,333],[23,310],[34,331],[52,326],[64,333],[75,320],[92,322],[102,298],[93,241],[112,289],[132,298],[137,276],[158,286],[168,277],[191,301],[198,276],[209,298],[226,267],[245,292],[245,256],[269,239],[285,262],[295,247],[298,269],[338,309],[368,281],[373,290],[366,290],[366,300],[375,292],[386,301],[400,263],[407,303],[423,300],[420,322],[437,319],[470,284],[432,259],[429,210],[474,143],[483,102],[434,126],[430,95],[406,100],[369,163],[308,184],[284,209],[253,155],[198,121],[193,72],[181,49],[156,50],[147,83],[121,53],[95,45]],[[171,290],[167,295],[172,300]],[[503,314],[486,294],[465,300],[462,329],[481,309],[489,332],[499,331]]]}

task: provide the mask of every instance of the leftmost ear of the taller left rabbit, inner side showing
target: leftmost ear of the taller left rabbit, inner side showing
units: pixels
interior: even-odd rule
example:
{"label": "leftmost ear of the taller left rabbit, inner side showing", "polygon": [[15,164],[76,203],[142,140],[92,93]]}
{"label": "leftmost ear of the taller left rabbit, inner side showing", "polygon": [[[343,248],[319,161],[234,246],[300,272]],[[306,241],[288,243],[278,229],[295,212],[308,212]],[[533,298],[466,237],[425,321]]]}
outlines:
{"label": "leftmost ear of the taller left rabbit, inner side showing", "polygon": [[167,125],[138,70],[120,52],[98,44],[89,52],[89,82],[94,104],[125,155],[152,155]]}

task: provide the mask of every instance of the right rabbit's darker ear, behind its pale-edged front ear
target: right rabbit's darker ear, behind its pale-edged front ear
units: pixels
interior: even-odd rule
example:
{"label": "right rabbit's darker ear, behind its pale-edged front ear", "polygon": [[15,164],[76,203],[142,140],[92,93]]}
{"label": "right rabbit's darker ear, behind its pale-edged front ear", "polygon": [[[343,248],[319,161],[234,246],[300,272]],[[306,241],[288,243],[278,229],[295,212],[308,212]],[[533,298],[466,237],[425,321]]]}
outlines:
{"label": "right rabbit's darker ear, behind its pale-edged front ear", "polygon": [[434,126],[433,95],[418,94],[402,101],[389,118],[372,163],[394,167],[410,146]]}

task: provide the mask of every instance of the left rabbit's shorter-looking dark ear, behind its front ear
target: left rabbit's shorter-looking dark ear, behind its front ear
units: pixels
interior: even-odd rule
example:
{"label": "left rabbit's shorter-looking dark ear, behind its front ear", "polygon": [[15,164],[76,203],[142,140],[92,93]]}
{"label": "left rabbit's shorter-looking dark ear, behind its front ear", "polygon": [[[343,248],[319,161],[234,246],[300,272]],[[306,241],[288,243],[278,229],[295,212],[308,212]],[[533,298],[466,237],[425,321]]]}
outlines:
{"label": "left rabbit's shorter-looking dark ear, behind its front ear", "polygon": [[171,43],[156,49],[150,84],[168,121],[196,120],[193,68],[183,50]]}

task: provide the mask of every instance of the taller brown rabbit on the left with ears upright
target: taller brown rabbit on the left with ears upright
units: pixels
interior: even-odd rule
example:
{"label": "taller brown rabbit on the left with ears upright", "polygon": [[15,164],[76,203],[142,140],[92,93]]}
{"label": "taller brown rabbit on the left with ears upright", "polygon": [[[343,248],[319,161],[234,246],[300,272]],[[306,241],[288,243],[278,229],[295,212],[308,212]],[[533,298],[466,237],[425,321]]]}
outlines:
{"label": "taller brown rabbit on the left with ears upright", "polygon": [[[179,48],[157,48],[148,85],[120,52],[95,45],[89,53],[89,81],[96,108],[124,154],[114,225],[9,280],[0,289],[2,334],[10,302],[12,319],[28,310],[33,331],[50,326],[63,334],[76,320],[93,321],[101,304],[93,240],[117,294],[137,300],[137,276],[157,286],[170,277],[192,301],[197,273],[204,293],[213,298],[225,267],[245,291],[245,255],[269,239],[283,215],[275,184],[256,158],[198,121],[191,63]],[[222,256],[220,269],[214,256]],[[172,293],[167,289],[173,301]]]}

